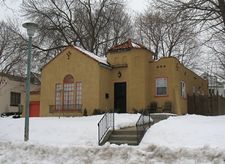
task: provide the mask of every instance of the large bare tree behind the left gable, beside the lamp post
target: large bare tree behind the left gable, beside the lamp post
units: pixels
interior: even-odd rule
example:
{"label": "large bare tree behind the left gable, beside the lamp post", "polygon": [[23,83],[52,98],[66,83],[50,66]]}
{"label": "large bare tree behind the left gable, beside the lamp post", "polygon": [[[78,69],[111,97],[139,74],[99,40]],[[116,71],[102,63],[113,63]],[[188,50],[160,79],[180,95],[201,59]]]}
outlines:
{"label": "large bare tree behind the left gable, beside the lamp post", "polygon": [[35,47],[43,59],[70,44],[104,54],[131,29],[122,0],[27,0],[23,12],[39,24]]}

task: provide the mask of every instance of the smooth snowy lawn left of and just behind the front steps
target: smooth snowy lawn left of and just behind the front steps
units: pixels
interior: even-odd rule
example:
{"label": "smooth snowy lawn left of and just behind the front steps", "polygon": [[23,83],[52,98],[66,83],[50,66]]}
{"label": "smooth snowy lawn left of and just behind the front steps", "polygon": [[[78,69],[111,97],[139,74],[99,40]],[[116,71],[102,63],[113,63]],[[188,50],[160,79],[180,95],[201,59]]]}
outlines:
{"label": "smooth snowy lawn left of and just behind the front steps", "polygon": [[[135,126],[139,114],[115,114],[115,128]],[[31,117],[29,143],[52,146],[97,146],[97,124],[102,115],[89,117]],[[23,142],[24,118],[0,118],[1,141]]]}

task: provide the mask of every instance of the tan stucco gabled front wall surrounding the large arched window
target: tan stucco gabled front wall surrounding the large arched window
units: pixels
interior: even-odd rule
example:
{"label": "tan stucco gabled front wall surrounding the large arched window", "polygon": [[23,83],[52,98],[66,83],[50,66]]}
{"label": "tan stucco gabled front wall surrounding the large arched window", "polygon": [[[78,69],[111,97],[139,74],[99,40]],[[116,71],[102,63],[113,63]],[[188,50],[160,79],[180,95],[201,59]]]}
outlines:
{"label": "tan stucco gabled front wall surrounding the large arched window", "polygon": [[[71,55],[68,59],[69,52]],[[49,105],[55,105],[55,85],[63,84],[63,79],[68,74],[74,77],[75,82],[82,82],[82,108],[92,114],[93,108],[99,108],[99,67],[98,62],[87,55],[74,48],[66,48],[42,70],[40,115],[52,115],[49,113]]]}

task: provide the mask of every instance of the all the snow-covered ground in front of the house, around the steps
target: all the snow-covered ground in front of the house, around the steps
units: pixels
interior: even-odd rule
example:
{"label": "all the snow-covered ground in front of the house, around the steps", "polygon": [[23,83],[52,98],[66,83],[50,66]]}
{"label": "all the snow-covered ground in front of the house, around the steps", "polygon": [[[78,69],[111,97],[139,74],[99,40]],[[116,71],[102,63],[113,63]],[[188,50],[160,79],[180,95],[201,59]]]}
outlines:
{"label": "all the snow-covered ground in front of the house, around the steps", "polygon": [[[170,117],[153,125],[139,146],[98,146],[101,117],[30,118],[26,143],[23,118],[0,118],[0,163],[225,163],[225,116]],[[116,127],[133,126],[138,117],[116,114]]]}

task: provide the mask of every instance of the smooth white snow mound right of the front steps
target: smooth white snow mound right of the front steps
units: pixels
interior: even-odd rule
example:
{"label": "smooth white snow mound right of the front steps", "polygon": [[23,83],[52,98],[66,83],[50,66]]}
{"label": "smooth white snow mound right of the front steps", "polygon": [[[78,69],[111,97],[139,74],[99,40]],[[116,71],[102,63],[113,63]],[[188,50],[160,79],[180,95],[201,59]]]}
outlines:
{"label": "smooth white snow mound right of the front steps", "polygon": [[225,116],[185,115],[169,117],[153,125],[141,145],[225,149]]}

